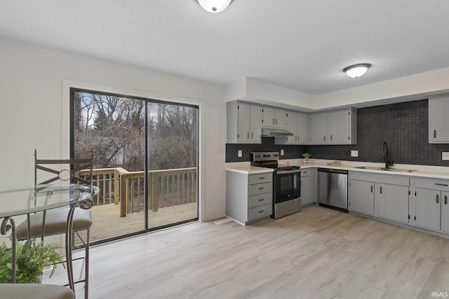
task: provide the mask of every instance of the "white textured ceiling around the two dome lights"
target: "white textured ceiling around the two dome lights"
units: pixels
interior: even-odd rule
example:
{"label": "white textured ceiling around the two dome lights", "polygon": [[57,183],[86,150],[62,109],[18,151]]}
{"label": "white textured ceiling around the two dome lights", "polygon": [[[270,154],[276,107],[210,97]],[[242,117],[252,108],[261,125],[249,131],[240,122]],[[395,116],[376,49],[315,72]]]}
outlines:
{"label": "white textured ceiling around the two dome lights", "polygon": [[[196,0],[0,0],[0,36],[317,95],[449,67],[449,1],[234,0],[208,13]],[[356,63],[373,67],[347,77]]]}

